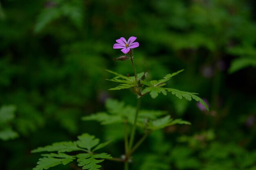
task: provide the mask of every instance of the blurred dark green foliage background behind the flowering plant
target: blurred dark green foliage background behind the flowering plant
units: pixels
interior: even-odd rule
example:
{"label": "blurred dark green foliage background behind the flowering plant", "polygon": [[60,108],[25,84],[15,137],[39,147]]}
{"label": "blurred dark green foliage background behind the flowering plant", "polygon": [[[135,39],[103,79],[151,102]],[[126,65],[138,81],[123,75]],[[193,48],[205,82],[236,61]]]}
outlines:
{"label": "blurred dark green foliage background behind the flowering plant", "polygon": [[[112,49],[137,37],[138,72],[150,78],[185,69],[168,87],[197,92],[209,104],[169,94],[145,96],[142,108],[166,110],[192,125],[150,135],[132,170],[256,170],[255,0],[0,0],[0,170],[31,170],[30,151],[88,132],[101,141],[120,132],[81,117],[107,98],[136,105],[105,69],[132,75]],[[137,134],[139,137],[140,134]],[[115,140],[106,152],[124,153]],[[104,161],[102,170],[121,170]],[[75,163],[54,170],[79,170]]]}

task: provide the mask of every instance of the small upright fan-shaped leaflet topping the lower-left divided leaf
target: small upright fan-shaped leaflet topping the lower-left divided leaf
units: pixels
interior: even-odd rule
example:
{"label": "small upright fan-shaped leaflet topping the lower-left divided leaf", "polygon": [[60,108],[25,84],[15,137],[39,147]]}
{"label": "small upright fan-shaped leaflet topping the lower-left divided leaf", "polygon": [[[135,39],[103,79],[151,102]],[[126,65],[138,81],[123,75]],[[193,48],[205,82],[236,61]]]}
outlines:
{"label": "small upright fan-shaped leaflet topping the lower-left divided leaf", "polygon": [[88,149],[89,151],[91,151],[91,149],[98,145],[99,143],[99,139],[95,138],[95,136],[90,135],[90,134],[82,134],[81,136],[78,136],[78,141],[77,141],[77,145],[81,148],[85,148]]}

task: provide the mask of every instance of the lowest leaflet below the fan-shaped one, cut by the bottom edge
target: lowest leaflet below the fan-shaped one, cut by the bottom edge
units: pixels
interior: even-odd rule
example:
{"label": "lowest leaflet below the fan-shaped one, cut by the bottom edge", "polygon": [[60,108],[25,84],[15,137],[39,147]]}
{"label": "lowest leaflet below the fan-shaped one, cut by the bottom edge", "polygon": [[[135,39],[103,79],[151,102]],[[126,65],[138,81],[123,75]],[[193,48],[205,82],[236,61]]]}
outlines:
{"label": "lowest leaflet below the fan-shaped one, cut by the bottom edge", "polygon": [[84,170],[99,170],[101,168],[98,163],[104,161],[104,159],[112,158],[109,154],[101,153],[101,154],[78,154],[77,161],[79,162],[78,166],[83,166]]}

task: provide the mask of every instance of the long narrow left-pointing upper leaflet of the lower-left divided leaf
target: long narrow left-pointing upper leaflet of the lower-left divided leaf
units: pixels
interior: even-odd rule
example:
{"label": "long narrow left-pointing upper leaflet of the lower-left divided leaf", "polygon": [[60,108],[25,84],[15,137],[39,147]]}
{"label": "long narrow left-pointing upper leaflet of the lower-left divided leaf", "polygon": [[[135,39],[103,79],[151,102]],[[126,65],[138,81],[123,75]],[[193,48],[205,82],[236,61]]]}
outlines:
{"label": "long narrow left-pointing upper leaflet of the lower-left divided leaf", "polygon": [[44,151],[72,152],[76,150],[81,150],[81,148],[77,147],[77,143],[68,141],[68,142],[57,142],[57,143],[53,143],[52,145],[47,145],[45,147],[39,147],[35,150],[32,150],[31,153],[44,152]]}

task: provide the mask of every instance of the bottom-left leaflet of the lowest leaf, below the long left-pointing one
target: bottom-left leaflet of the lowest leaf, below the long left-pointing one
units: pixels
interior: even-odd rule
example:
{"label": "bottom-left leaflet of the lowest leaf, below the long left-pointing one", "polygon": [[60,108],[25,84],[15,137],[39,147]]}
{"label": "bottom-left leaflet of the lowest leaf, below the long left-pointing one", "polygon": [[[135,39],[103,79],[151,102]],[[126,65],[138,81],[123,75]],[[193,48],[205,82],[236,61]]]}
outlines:
{"label": "bottom-left leaflet of the lowest leaf, below the long left-pointing one", "polygon": [[[40,158],[37,162],[37,166],[33,170],[47,170],[50,167],[54,167],[60,164],[66,165],[76,159],[74,156],[70,156],[64,153],[60,154],[45,154],[43,158]],[[55,158],[56,157],[56,158]]]}

